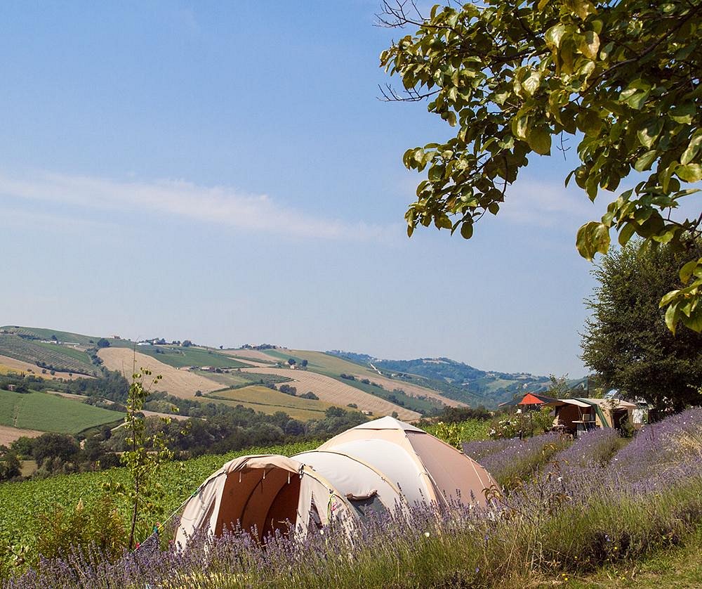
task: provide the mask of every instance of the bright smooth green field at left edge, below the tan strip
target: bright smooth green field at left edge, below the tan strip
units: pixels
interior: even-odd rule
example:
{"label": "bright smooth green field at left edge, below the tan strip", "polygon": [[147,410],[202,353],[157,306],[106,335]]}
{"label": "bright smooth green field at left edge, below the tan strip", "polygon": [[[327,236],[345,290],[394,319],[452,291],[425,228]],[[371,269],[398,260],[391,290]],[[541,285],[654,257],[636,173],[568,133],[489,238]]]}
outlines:
{"label": "bright smooth green field at left edge, below the tan strip", "polygon": [[124,413],[86,405],[48,393],[0,390],[0,425],[40,432],[77,434],[89,427],[112,423]]}

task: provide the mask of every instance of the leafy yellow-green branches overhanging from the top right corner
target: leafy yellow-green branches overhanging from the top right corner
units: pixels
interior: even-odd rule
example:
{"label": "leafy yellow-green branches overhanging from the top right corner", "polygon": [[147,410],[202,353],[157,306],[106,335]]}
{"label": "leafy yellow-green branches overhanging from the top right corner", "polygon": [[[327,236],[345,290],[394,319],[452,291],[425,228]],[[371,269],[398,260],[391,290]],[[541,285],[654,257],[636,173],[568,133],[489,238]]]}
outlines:
{"label": "leafy yellow-green branches overhanging from the top right corner", "polygon": [[[621,245],[640,235],[680,247],[698,234],[702,215],[670,213],[702,180],[700,0],[484,0],[435,6],[427,18],[406,0],[383,8],[382,24],[417,29],[380,56],[404,86],[385,97],[427,98],[456,128],[404,154],[406,167],[427,170],[405,215],[409,235],[433,222],[470,238],[486,212],[498,214],[529,155],[551,155],[566,136],[579,159],[566,183],[590,200],[635,182],[580,228],[583,257],[607,253],[613,229]],[[665,319],[702,331],[702,259],[681,261]]]}

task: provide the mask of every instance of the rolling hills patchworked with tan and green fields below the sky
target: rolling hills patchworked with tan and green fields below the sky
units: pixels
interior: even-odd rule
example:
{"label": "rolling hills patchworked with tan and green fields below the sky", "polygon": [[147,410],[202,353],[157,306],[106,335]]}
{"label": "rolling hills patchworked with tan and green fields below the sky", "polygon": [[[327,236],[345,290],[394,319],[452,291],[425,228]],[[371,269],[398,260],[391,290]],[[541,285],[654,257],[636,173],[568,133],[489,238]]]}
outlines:
{"label": "rolling hills patchworked with tan and green fields below the sky", "polygon": [[[515,394],[548,388],[547,377],[479,370],[450,358],[384,360],[342,351],[188,344],[160,338],[137,344],[117,336],[6,325],[0,328],[0,376],[74,379],[107,368],[129,378],[135,368],[147,368],[162,376],[154,390],[264,413],[284,411],[303,420],[338,406],[411,421],[445,406],[496,408]],[[296,396],[283,394],[282,384],[294,387]],[[300,399],[306,393],[312,398]]]}

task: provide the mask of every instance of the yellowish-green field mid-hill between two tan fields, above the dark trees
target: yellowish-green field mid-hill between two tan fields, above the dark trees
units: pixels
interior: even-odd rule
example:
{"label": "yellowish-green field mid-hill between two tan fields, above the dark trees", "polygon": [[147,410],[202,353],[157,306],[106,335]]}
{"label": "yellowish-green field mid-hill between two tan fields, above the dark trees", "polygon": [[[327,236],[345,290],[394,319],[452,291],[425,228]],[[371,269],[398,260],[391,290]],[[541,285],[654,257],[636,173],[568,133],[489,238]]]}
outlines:
{"label": "yellowish-green field mid-hill between two tan fields, above the dark trees", "polygon": [[268,387],[244,387],[216,391],[207,395],[208,399],[218,399],[221,402],[237,406],[243,405],[263,413],[272,415],[276,411],[283,411],[291,418],[298,420],[311,420],[324,418],[324,411],[331,407],[329,403],[314,401],[314,399],[300,399],[298,396],[286,395]]}

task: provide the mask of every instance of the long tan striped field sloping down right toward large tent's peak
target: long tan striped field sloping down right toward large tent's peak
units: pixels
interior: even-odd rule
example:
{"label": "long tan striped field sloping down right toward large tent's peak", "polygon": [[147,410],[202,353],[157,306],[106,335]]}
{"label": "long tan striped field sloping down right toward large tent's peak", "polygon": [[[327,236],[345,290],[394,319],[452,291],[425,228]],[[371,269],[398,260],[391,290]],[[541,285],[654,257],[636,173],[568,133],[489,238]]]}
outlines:
{"label": "long tan striped field sloping down right toward large tent's peak", "polygon": [[242,368],[242,372],[255,372],[259,374],[274,374],[286,376],[293,379],[293,387],[298,389],[298,394],[312,391],[321,401],[331,403],[338,407],[345,407],[349,403],[356,403],[359,410],[372,411],[374,417],[381,415],[391,415],[397,411],[397,415],[404,421],[418,420],[419,413],[411,411],[380,399],[359,389],[355,389],[348,384],[334,380],[333,378],[310,370],[290,370],[289,368]]}

